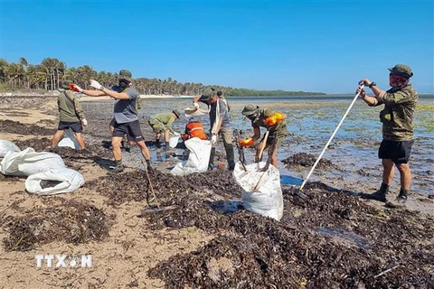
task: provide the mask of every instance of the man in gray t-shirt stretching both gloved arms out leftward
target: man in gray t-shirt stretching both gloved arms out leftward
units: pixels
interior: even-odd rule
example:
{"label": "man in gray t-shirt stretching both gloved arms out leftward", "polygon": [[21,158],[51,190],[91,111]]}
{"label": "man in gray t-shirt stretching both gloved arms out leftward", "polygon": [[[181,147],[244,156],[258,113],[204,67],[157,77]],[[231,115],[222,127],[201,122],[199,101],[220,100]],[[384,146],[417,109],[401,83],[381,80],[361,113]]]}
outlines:
{"label": "man in gray t-shirt stretching both gloved arms out leftward", "polygon": [[74,85],[75,90],[90,97],[109,96],[110,98],[116,99],[114,107],[115,124],[111,138],[115,166],[110,167],[111,172],[116,173],[124,170],[122,164],[122,152],[120,150],[120,142],[124,135],[130,135],[132,139],[134,139],[146,160],[147,169],[152,169],[151,155],[146,147],[140,124],[138,122],[136,108],[138,92],[136,89],[132,88],[131,72],[128,70],[120,70],[118,75],[118,85],[111,89],[106,89],[94,79],[90,79],[90,87],[96,90],[81,89],[79,86]]}

